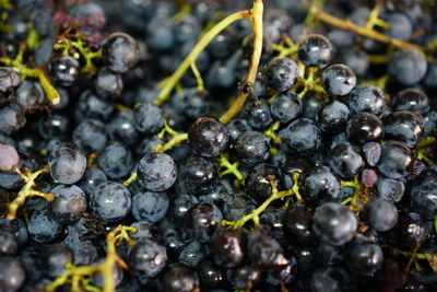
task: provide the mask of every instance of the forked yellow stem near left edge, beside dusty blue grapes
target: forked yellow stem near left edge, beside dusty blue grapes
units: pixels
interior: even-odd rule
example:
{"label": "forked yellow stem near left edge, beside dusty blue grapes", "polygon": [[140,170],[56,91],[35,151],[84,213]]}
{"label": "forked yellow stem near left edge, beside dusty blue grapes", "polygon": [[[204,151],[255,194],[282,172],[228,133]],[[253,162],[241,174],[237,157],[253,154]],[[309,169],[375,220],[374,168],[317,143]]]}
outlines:
{"label": "forked yellow stem near left edge, beside dusty blue grapes", "polygon": [[23,178],[25,185],[20,190],[16,198],[8,205],[8,220],[14,220],[16,217],[16,211],[21,206],[23,206],[28,197],[40,197],[47,201],[52,201],[55,199],[55,195],[52,192],[43,192],[37,189],[34,189],[36,186],[35,179],[43,173],[48,173],[48,167],[44,167],[39,171],[32,173],[28,168],[24,170],[24,173],[20,170],[16,170],[16,173]]}

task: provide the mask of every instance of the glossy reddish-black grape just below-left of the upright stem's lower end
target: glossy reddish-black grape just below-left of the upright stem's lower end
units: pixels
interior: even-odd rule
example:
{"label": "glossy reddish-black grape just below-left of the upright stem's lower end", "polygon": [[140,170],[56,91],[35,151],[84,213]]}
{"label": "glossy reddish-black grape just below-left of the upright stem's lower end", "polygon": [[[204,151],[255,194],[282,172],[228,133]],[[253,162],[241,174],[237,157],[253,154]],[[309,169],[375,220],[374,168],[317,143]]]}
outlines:
{"label": "glossy reddish-black grape just below-left of the upright stem's lower end", "polygon": [[229,135],[222,122],[203,117],[198,118],[191,126],[188,139],[197,154],[215,157],[226,148]]}

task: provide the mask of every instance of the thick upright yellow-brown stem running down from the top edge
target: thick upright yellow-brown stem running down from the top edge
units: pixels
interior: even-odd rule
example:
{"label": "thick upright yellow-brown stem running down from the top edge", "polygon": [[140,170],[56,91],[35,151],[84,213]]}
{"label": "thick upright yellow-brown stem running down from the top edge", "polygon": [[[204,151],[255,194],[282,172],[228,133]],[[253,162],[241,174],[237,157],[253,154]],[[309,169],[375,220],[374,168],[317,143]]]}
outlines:
{"label": "thick upright yellow-brown stem running down from the top edge", "polygon": [[238,114],[247,97],[249,96],[249,87],[255,83],[258,73],[258,67],[261,59],[262,52],[262,15],[263,15],[263,3],[262,0],[253,0],[253,7],[249,11],[249,17],[253,26],[253,51],[250,59],[249,70],[246,79],[243,82],[241,93],[237,96],[229,109],[220,118],[220,121],[227,124],[232,118]]}

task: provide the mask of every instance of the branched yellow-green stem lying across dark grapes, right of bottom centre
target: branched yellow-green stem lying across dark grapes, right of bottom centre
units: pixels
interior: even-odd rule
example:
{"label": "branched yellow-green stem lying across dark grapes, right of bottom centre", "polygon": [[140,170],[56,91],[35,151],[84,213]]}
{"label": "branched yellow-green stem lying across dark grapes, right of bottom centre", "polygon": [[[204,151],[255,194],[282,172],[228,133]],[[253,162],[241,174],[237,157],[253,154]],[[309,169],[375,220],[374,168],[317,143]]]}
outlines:
{"label": "branched yellow-green stem lying across dark grapes, right of bottom centre", "polygon": [[223,220],[222,225],[223,226],[231,226],[232,229],[238,230],[241,229],[248,221],[252,221],[256,226],[259,226],[260,224],[260,214],[267,210],[267,208],[275,200],[283,200],[286,197],[290,196],[295,196],[298,201],[302,201],[302,196],[299,192],[299,185],[298,180],[300,178],[299,173],[294,173],[293,174],[293,187],[287,190],[279,191],[276,185],[274,184],[273,180],[269,179],[269,183],[272,188],[272,195],[257,209],[255,209],[252,212],[249,214],[244,215],[237,221],[227,221]]}

